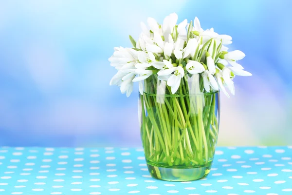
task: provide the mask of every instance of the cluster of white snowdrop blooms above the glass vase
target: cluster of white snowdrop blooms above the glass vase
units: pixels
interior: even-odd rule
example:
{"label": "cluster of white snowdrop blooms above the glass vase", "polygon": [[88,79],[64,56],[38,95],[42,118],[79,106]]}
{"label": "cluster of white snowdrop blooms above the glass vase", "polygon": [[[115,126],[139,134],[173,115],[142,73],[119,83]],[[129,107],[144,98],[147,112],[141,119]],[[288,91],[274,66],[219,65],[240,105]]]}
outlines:
{"label": "cluster of white snowdrop blooms above the glass vase", "polygon": [[118,72],[110,85],[120,86],[128,97],[133,82],[139,82],[143,94],[143,80],[157,74],[175,94],[184,76],[200,74],[206,92],[221,90],[229,97],[227,87],[234,95],[233,78],[252,75],[237,63],[245,54],[228,51],[226,45],[232,43],[232,38],[219,35],[213,28],[203,30],[197,17],[190,23],[183,20],[177,24],[177,20],[175,13],[167,16],[162,25],[148,18],[149,27],[141,22],[143,32],[137,42],[129,36],[133,48],[115,47],[109,61]]}

